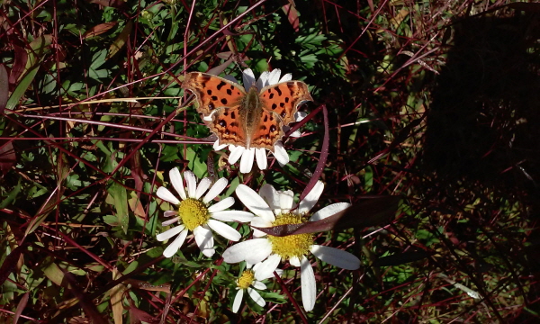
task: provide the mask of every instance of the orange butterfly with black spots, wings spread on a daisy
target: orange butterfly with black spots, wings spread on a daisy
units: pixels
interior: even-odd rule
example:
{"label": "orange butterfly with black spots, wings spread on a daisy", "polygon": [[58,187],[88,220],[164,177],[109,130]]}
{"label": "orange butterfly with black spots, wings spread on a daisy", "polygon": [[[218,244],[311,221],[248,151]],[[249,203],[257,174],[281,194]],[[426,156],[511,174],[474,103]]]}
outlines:
{"label": "orange butterfly with black spots, wings spread on a daisy", "polygon": [[266,148],[274,152],[275,142],[283,139],[284,126],[294,120],[298,107],[313,101],[308,85],[284,81],[257,89],[220,76],[188,73],[182,83],[195,95],[197,112],[217,135],[219,144],[243,148]]}

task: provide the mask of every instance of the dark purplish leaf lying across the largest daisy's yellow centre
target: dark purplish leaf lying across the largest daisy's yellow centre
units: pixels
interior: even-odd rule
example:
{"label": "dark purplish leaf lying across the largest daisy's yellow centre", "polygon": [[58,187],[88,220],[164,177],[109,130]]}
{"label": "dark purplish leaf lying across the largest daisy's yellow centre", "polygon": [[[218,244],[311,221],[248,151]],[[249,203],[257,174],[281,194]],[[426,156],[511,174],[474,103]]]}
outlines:
{"label": "dark purplish leaf lying across the largest daisy's yellow centre", "polygon": [[358,202],[344,211],[324,220],[307,221],[302,224],[280,225],[271,228],[258,228],[266,234],[283,237],[287,235],[318,233],[331,229],[366,228],[388,223],[398,210],[399,196],[378,196]]}

